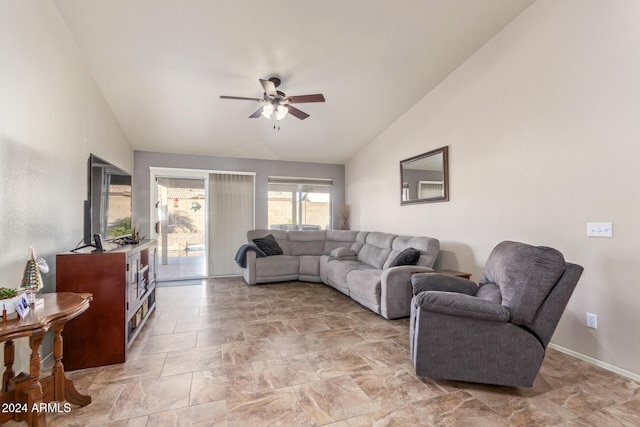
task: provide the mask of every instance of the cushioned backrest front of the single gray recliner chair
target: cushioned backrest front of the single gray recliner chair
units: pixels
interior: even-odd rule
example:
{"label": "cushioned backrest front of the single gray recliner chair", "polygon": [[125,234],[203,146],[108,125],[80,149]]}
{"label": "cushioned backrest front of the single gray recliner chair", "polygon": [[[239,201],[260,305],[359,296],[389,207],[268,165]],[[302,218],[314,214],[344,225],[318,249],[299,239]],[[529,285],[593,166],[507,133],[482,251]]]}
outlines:
{"label": "cushioned backrest front of the single gray recliner chair", "polygon": [[479,284],[498,285],[511,322],[526,326],[564,271],[564,256],[558,250],[505,241],[489,255]]}

